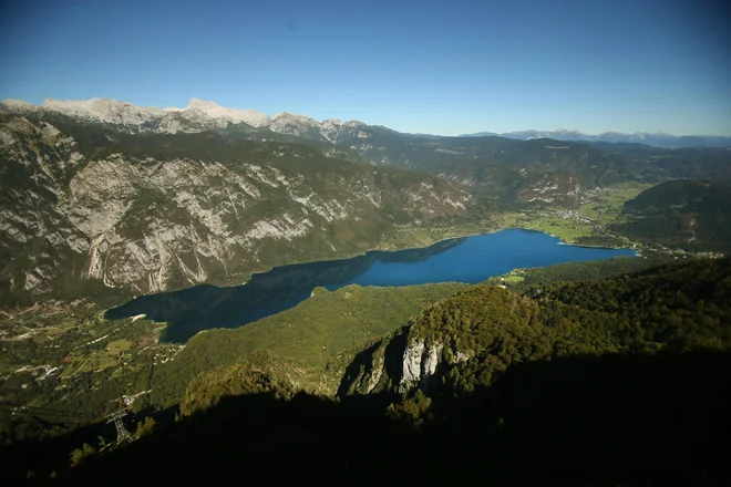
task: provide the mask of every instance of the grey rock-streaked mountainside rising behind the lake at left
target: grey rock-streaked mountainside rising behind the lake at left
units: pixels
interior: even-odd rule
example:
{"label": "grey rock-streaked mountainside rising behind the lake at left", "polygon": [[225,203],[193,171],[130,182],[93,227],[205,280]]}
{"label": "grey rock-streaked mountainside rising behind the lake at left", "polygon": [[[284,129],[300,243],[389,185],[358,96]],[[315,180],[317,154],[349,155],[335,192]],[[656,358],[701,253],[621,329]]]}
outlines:
{"label": "grey rock-streaked mountainside rising behind the lake at left", "polygon": [[473,201],[434,177],[303,146],[106,137],[114,151],[79,144],[42,118],[0,120],[8,291],[39,294],[85,279],[134,293],[240,281],[361,252],[393,225],[463,215]]}

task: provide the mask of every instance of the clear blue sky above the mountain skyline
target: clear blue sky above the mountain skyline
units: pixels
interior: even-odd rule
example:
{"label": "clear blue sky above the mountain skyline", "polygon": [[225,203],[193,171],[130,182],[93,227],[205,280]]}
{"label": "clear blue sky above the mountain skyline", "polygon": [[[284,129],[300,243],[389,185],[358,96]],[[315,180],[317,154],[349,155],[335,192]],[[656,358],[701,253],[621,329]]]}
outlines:
{"label": "clear blue sky above the mountain skyline", "polygon": [[8,0],[0,99],[192,96],[456,135],[731,135],[710,0]]}

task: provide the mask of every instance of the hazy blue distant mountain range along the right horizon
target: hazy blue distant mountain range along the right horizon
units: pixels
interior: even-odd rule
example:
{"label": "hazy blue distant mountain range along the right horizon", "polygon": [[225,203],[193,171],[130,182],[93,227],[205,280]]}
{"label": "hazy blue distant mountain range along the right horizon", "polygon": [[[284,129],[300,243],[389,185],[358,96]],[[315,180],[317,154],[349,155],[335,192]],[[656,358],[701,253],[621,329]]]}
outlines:
{"label": "hazy blue distant mountain range along the right horizon", "polygon": [[477,132],[476,134],[464,134],[460,137],[506,137],[519,141],[531,141],[534,138],[553,138],[554,141],[576,141],[576,142],[611,142],[624,144],[645,144],[661,148],[682,148],[682,147],[729,147],[731,137],[720,135],[670,135],[670,134],[649,134],[646,132],[636,132],[634,134],[621,134],[619,132],[605,132],[598,135],[588,135],[578,131],[567,131],[559,128],[557,131],[519,131],[504,134],[492,132]]}

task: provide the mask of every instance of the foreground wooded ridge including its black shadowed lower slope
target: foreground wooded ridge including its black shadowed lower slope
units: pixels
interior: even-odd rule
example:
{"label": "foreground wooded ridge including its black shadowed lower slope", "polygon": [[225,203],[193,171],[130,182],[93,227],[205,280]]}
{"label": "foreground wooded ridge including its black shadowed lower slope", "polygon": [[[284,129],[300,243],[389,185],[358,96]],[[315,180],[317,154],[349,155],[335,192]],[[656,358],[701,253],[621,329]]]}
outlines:
{"label": "foreground wooded ridge including its black shadowed lower slope", "polygon": [[[379,392],[297,393],[254,358],[193,381],[179,421],[60,475],[113,481],[109,472],[136,465],[167,481],[241,468],[262,479],[284,455],[280,480],[722,484],[730,322],[729,259],[524,296],[472,287],[382,340]],[[442,345],[435,374],[404,388],[404,351],[420,340]]]}

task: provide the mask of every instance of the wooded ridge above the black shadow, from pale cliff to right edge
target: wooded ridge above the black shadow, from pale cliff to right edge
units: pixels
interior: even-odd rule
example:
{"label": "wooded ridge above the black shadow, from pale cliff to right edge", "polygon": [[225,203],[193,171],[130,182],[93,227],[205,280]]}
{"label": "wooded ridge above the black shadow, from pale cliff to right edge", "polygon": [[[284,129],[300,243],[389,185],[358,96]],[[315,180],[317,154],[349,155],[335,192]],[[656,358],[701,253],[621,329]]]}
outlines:
{"label": "wooded ridge above the black shadow, from pale cliff to right edge", "polygon": [[[477,286],[424,310],[360,358],[350,393],[464,394],[516,361],[731,350],[731,260],[666,266],[525,296]],[[682,297],[682,298],[680,298]],[[377,385],[375,385],[377,384]],[[446,392],[445,392],[446,391]]]}

